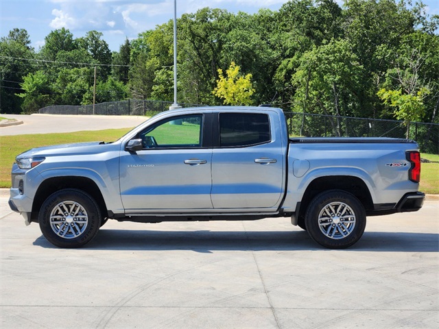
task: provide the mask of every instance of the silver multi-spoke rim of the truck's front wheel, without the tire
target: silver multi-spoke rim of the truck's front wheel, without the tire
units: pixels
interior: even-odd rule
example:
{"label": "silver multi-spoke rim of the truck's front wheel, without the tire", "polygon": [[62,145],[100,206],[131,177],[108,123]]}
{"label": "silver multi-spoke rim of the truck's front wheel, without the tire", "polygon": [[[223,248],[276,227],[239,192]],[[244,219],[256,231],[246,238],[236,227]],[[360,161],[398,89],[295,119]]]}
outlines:
{"label": "silver multi-spoke rim of the truck's front wheel, without the tire", "polygon": [[63,239],[77,238],[84,233],[87,224],[87,212],[78,202],[60,202],[50,213],[50,227]]}

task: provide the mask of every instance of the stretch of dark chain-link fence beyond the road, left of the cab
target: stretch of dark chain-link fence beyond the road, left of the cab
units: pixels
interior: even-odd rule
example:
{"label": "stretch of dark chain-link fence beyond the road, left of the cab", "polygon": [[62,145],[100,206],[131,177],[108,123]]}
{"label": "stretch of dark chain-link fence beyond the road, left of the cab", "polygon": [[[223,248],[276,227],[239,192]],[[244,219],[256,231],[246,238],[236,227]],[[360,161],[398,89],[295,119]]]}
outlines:
{"label": "stretch of dark chain-link fence beyond the road, left of the cab", "polygon": [[[85,115],[141,115],[152,116],[158,112],[169,110],[171,101],[147,101],[128,99],[128,101],[108,101],[93,105],[52,105],[38,110],[41,114],[85,114]],[[189,108],[199,104],[178,103],[178,106]]]}

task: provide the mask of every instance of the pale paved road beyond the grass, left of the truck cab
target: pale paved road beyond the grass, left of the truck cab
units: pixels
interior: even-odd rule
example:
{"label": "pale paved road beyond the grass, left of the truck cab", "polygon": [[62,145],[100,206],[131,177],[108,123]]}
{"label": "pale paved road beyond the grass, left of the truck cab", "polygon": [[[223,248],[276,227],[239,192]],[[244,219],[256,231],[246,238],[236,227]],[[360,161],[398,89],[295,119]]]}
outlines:
{"label": "pale paved road beyond the grass, left of the truck cab", "polygon": [[1,117],[23,121],[22,125],[0,127],[1,136],[135,127],[146,120],[145,117],[113,115],[1,114]]}

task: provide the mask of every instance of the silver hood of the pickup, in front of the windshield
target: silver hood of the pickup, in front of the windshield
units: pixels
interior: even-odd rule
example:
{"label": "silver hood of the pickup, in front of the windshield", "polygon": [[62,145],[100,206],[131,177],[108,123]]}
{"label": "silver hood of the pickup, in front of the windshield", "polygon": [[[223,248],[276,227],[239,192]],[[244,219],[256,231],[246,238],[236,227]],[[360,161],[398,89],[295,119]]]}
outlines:
{"label": "silver hood of the pickup, in front of the windshield", "polygon": [[19,154],[19,156],[16,156],[16,158],[99,154],[102,152],[119,149],[118,145],[119,143],[105,144],[104,142],[89,142],[36,147]]}

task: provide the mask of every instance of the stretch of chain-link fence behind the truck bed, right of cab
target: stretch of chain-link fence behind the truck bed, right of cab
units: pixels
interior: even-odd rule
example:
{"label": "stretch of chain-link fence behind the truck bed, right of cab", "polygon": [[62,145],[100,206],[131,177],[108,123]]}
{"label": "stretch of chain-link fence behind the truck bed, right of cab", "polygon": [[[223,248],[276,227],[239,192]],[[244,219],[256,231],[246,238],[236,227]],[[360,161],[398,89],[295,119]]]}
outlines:
{"label": "stretch of chain-link fence behind the truck bed, right of cab", "polygon": [[[285,112],[290,136],[344,136],[406,138],[403,121],[337,117],[322,114]],[[409,138],[418,142],[420,151],[439,154],[439,124],[410,125]]]}

